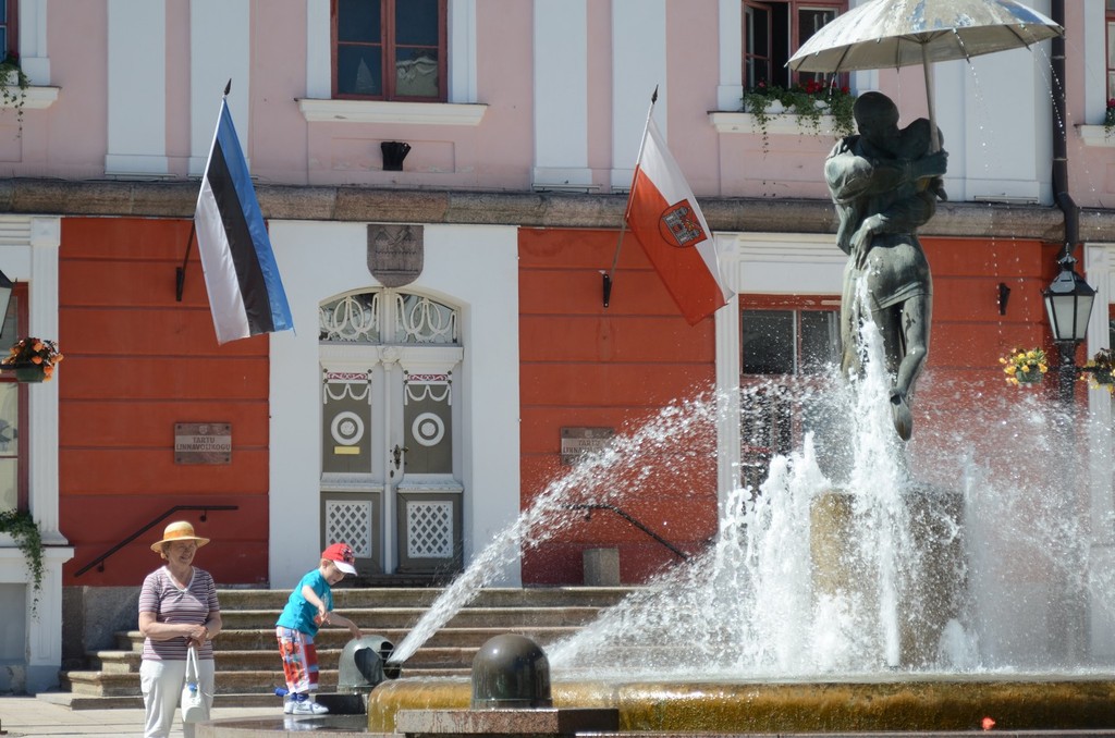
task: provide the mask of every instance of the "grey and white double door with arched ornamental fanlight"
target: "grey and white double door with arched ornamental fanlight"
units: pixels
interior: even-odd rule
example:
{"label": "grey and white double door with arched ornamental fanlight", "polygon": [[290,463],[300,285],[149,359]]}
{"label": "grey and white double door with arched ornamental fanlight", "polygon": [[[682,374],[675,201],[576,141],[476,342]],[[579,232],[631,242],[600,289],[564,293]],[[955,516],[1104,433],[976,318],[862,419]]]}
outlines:
{"label": "grey and white double door with arched ornamental fanlight", "polygon": [[459,312],[397,290],[319,308],[321,545],[361,574],[460,569]]}

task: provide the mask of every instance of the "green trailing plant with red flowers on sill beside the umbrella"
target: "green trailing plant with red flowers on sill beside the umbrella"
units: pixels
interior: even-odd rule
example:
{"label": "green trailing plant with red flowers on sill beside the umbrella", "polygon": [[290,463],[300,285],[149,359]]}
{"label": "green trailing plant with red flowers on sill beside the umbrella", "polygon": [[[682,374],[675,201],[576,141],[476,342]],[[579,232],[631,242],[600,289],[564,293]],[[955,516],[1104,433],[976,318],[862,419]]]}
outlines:
{"label": "green trailing plant with red flowers on sill beside the umbrella", "polygon": [[769,149],[770,144],[767,132],[770,116],[777,115],[768,110],[774,103],[780,103],[785,114],[796,115],[798,126],[814,136],[821,134],[821,119],[826,115],[833,117],[838,136],[851,136],[855,133],[855,119],[852,117],[855,96],[846,87],[831,87],[811,80],[804,85],[795,84],[786,88],[760,81],[744,91],[743,101],[744,110],[755,117],[755,123],[763,134],[764,152]]}

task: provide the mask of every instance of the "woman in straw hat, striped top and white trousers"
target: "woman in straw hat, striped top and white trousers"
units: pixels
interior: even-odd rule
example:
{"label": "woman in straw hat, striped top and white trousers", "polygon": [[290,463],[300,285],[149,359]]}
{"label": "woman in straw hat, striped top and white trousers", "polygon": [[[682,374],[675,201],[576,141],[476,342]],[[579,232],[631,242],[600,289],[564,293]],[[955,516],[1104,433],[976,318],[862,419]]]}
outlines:
{"label": "woman in straw hat, striped top and white trousers", "polygon": [[[194,554],[209,543],[185,521],[171,523],[151,550],[166,560],[144,580],[139,591],[139,632],[144,634],[139,684],[146,712],[144,738],[171,735],[174,711],[182,699],[186,653],[197,649],[198,682],[205,718],[213,707],[213,643],[221,632],[221,606],[209,572],[193,565]],[[182,726],[193,738],[193,724]]]}

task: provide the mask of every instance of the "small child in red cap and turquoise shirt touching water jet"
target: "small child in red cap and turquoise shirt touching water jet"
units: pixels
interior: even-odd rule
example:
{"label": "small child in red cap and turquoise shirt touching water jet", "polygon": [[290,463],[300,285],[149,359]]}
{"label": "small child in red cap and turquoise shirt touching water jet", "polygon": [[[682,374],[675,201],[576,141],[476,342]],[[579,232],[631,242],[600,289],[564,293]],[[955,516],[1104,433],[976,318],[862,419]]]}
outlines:
{"label": "small child in red cap and turquoise shirt touching water jet", "polygon": [[287,606],[275,622],[275,638],[287,677],[288,715],[324,715],[329,709],[313,701],[318,688],[318,649],[313,637],[321,625],[348,628],[352,638],[360,629],[348,618],[333,612],[332,585],[356,574],[356,556],[347,543],[334,543],[321,552],[317,569],[302,577],[287,600]]}

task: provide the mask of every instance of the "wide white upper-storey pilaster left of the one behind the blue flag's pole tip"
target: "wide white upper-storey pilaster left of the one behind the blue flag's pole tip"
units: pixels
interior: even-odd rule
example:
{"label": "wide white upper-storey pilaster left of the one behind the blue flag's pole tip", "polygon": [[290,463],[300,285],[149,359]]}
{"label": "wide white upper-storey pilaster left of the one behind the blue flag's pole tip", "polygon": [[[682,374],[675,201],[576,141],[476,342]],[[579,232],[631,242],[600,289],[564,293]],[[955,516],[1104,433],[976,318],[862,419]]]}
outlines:
{"label": "wide white upper-storey pilaster left of the one behind the blue flag's pole tip", "polygon": [[105,174],[167,173],[165,0],[108,0]]}

